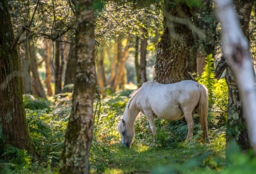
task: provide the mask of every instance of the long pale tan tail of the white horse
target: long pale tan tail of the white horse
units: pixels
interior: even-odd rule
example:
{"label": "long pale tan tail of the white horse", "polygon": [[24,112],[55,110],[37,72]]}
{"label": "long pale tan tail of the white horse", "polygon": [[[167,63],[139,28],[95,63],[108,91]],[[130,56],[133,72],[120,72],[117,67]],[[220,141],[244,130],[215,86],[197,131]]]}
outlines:
{"label": "long pale tan tail of the white horse", "polygon": [[199,99],[197,112],[199,114],[199,122],[201,126],[201,131],[203,132],[203,140],[207,138],[207,143],[209,143],[208,133],[207,133],[207,114],[208,114],[208,92],[207,88],[204,85],[199,84],[199,91],[201,93],[201,97]]}

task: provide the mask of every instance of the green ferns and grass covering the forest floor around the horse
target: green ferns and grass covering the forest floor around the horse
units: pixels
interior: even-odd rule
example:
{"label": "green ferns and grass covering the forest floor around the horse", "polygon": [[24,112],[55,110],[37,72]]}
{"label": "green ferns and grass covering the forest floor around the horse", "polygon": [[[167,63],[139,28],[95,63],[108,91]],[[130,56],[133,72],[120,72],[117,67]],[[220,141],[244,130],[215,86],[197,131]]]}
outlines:
{"label": "green ferns and grass covering the forest floor around the horse", "polygon": [[[211,65],[211,57],[207,65]],[[146,116],[140,114],[134,123],[135,136],[131,148],[123,148],[116,126],[134,90],[124,90],[94,101],[94,138],[90,151],[90,173],[253,173],[256,159],[231,146],[225,160],[225,120],[227,118],[227,85],[225,80],[212,79],[213,69],[207,70],[197,80],[207,86],[209,93],[208,130],[211,144],[201,141],[199,118],[195,114],[195,126],[191,142],[186,142],[188,126],[185,120],[168,122],[155,118],[157,134],[152,134]],[[28,96],[27,124],[33,142],[43,163],[36,161],[25,150],[5,145],[0,121],[0,173],[58,173],[63,149],[64,132],[70,114],[70,93],[47,101]],[[36,102],[35,102],[36,101]],[[32,107],[34,106],[34,107]],[[37,107],[35,107],[37,106]],[[39,107],[38,107],[39,106]]]}

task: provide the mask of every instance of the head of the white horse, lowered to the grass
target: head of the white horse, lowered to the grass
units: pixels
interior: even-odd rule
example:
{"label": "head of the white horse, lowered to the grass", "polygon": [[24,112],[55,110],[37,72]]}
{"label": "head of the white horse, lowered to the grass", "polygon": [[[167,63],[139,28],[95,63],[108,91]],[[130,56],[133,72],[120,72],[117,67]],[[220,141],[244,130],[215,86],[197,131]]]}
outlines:
{"label": "head of the white horse, lowered to the grass", "polygon": [[127,148],[130,148],[132,144],[132,139],[134,138],[134,130],[128,129],[126,122],[121,119],[120,123],[118,124],[118,132],[121,135],[121,142]]}

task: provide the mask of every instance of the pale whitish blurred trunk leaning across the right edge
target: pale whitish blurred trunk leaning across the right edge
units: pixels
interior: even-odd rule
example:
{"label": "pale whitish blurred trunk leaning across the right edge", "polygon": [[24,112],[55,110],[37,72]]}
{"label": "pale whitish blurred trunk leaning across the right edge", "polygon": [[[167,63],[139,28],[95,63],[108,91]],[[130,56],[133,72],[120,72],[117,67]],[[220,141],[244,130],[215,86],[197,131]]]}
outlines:
{"label": "pale whitish blurred trunk leaning across the right edge", "polygon": [[[249,43],[245,38],[231,0],[214,0],[222,28],[222,49],[239,86],[251,146],[256,151],[256,90]],[[235,116],[235,115],[234,115]]]}

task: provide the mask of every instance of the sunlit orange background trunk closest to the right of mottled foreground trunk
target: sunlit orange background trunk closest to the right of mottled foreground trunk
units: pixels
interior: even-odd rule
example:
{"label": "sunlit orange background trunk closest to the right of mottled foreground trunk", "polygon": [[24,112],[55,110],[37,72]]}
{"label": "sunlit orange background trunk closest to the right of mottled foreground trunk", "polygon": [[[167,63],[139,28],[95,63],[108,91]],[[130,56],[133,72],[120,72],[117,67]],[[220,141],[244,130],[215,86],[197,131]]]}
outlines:
{"label": "sunlit orange background trunk closest to the right of mottled foreground trunk", "polygon": [[104,69],[104,48],[98,48],[98,55],[96,58],[96,66],[97,66],[97,77],[98,77],[98,85],[99,85],[99,93],[103,97],[106,96],[106,91],[104,87],[106,87],[106,74]]}

